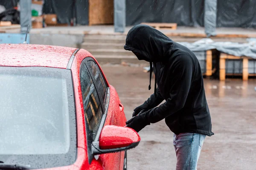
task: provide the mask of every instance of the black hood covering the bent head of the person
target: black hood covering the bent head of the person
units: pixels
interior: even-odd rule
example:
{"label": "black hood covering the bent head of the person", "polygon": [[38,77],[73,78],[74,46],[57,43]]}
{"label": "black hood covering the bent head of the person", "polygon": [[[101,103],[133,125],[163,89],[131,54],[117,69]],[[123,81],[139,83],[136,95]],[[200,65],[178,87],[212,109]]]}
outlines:
{"label": "black hood covering the bent head of the person", "polygon": [[128,32],[124,48],[132,51],[139,60],[160,62],[172,46],[173,41],[165,34],[151,26],[139,24]]}

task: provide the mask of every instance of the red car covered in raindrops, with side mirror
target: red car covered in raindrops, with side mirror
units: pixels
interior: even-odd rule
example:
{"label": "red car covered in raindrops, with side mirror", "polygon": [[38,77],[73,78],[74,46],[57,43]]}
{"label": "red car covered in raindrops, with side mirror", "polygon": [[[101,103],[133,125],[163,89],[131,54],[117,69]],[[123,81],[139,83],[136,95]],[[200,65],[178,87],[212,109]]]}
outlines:
{"label": "red car covered in raindrops, with side mirror", "polygon": [[83,49],[0,45],[0,170],[124,170],[140,136]]}

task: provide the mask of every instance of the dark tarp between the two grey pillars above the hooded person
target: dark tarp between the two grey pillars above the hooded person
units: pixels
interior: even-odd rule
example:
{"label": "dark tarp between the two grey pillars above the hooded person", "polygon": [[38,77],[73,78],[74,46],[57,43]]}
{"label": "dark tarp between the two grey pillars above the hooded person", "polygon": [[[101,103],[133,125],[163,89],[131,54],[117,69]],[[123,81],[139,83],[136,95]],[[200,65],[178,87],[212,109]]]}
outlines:
{"label": "dark tarp between the two grey pillars above the hooded person", "polygon": [[142,22],[204,26],[204,0],[126,0],[126,25]]}

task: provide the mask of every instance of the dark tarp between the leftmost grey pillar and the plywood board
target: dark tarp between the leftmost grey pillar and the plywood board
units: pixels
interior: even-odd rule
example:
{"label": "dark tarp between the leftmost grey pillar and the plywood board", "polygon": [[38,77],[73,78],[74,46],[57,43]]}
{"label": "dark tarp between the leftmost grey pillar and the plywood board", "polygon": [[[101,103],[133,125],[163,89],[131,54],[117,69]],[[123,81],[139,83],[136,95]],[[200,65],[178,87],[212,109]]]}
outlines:
{"label": "dark tarp between the leftmost grey pillar and the plywood board", "polygon": [[88,24],[88,0],[44,0],[43,13],[57,14],[58,23],[68,23],[73,17],[81,25]]}

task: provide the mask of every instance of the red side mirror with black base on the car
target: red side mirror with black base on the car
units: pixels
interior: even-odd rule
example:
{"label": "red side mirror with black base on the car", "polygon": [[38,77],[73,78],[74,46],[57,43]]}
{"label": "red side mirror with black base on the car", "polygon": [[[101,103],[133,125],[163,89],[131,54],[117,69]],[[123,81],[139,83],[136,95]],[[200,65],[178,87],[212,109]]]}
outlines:
{"label": "red side mirror with black base on the car", "polygon": [[98,142],[93,142],[93,155],[128,150],[140,143],[139,134],[129,128],[114,125],[103,127]]}

